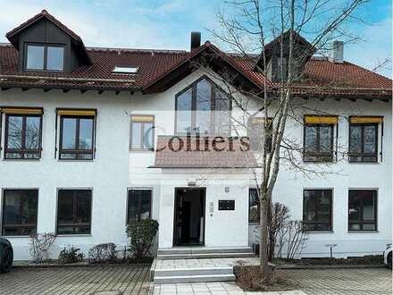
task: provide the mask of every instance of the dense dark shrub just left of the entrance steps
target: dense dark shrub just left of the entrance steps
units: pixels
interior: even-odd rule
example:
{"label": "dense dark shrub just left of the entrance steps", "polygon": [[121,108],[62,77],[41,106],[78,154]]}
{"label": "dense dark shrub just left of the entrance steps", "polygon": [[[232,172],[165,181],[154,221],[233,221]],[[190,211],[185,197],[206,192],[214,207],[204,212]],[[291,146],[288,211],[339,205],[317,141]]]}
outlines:
{"label": "dense dark shrub just left of the entrance steps", "polygon": [[145,219],[132,222],[127,225],[127,235],[130,238],[131,257],[141,260],[150,252],[158,231],[158,222],[153,219]]}

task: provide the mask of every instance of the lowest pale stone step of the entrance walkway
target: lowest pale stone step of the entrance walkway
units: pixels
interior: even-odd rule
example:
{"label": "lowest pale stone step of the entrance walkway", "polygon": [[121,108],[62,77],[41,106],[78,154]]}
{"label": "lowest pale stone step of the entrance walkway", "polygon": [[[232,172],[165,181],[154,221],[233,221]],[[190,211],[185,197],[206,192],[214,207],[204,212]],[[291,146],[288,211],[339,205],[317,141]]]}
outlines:
{"label": "lowest pale stone step of the entrance walkway", "polygon": [[233,282],[235,279],[235,274],[155,276],[155,283]]}

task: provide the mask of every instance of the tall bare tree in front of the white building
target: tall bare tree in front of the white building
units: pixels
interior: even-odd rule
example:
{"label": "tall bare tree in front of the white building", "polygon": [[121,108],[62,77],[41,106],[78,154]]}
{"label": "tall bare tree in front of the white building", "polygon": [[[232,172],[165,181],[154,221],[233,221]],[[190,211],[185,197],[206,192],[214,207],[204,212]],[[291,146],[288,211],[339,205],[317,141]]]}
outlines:
{"label": "tall bare tree in front of the white building", "polygon": [[[306,107],[299,103],[299,82],[305,80],[303,69],[305,63],[315,52],[326,52],[327,45],[334,38],[346,38],[353,41],[356,38],[345,28],[347,21],[355,21],[356,9],[365,4],[366,0],[240,0],[226,2],[225,12],[217,14],[220,29],[211,30],[213,37],[226,49],[241,55],[244,60],[256,59],[255,72],[264,77],[272,76],[272,67],[276,66],[276,82],[263,79],[263,87],[250,89],[237,83],[231,72],[221,72],[222,83],[228,85],[229,92],[234,97],[234,105],[244,112],[243,118],[255,114],[263,114],[263,134],[261,138],[262,151],[259,163],[261,169],[255,169],[255,186],[260,202],[260,269],[264,276],[271,275],[268,265],[269,254],[269,225],[272,212],[272,191],[280,171],[280,164],[287,161],[302,173],[319,173],[302,166],[297,161],[296,153],[303,154],[304,147],[293,139],[284,138],[289,119],[300,121],[297,109]],[[230,12],[230,13],[229,13]],[[305,41],[301,35],[306,35]],[[267,43],[268,39],[273,39]],[[278,62],[271,63],[272,51],[278,54]],[[272,78],[272,77],[271,77]],[[325,83],[320,86],[304,86],[304,96],[322,95],[328,89],[342,87],[343,80]],[[241,96],[238,96],[241,94]],[[241,98],[238,98],[241,97]],[[244,97],[247,97],[246,99]],[[255,113],[248,108],[248,100],[260,102],[262,107]],[[320,114],[323,112],[320,110]],[[271,118],[271,119],[268,119]],[[248,127],[247,120],[233,118],[242,127]],[[269,150],[267,147],[270,147]]]}

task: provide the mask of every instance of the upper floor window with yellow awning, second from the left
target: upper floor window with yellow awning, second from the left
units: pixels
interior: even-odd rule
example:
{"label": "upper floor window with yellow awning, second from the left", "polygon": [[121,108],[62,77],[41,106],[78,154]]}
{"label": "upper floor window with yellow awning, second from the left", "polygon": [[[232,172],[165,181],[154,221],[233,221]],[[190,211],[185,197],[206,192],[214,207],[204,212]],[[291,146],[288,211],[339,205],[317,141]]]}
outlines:
{"label": "upper floor window with yellow awning, second from the left", "polygon": [[62,160],[92,160],[95,146],[95,110],[58,110]]}

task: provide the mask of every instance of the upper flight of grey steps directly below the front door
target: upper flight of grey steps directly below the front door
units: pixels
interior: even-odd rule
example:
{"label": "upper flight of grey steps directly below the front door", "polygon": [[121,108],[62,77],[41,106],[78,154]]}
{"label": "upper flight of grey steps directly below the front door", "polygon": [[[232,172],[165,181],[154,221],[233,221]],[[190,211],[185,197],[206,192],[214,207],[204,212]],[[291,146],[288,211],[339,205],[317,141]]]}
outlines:
{"label": "upper flight of grey steps directly below the front door", "polygon": [[250,247],[181,247],[158,249],[157,260],[254,257]]}

